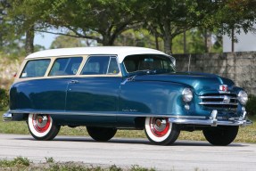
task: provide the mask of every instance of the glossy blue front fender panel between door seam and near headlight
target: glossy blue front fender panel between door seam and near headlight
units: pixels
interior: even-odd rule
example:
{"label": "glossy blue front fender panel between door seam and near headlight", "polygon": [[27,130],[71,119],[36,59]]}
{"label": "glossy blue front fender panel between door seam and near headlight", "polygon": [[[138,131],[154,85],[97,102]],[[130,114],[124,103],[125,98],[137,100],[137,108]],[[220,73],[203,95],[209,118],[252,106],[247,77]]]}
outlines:
{"label": "glossy blue front fender panel between door seam and near headlight", "polygon": [[120,86],[119,110],[126,114],[186,115],[182,91],[187,85],[158,81],[130,81]]}

